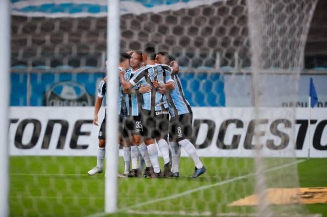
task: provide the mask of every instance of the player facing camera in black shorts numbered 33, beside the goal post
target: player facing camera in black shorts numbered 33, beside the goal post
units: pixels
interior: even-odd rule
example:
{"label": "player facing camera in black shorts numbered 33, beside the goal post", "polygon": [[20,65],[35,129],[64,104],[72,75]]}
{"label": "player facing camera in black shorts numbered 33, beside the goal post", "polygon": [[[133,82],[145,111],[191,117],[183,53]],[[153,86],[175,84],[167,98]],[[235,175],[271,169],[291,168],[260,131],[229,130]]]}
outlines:
{"label": "player facing camera in black shorts numbered 33, beside the goal post", "polygon": [[[130,66],[131,69],[126,70],[125,79],[129,81],[142,65],[142,51],[133,51],[131,53]],[[144,176],[148,177],[152,172],[152,164],[149,158],[149,153],[145,143],[141,143],[141,134],[143,131],[142,125],[142,94],[150,92],[152,86],[141,86],[138,84],[125,94],[125,103],[127,107],[125,126],[128,131],[129,140],[131,142],[131,160],[132,171],[128,174],[129,177],[138,177],[138,154],[145,160]]]}

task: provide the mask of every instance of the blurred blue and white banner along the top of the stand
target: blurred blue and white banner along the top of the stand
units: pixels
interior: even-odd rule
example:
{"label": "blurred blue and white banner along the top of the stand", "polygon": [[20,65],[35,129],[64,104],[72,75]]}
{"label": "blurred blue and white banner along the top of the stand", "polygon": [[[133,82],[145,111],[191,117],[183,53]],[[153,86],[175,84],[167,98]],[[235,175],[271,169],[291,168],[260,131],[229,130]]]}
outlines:
{"label": "blurred blue and white banner along the top of the stand", "polygon": [[[205,4],[223,0],[206,0]],[[120,2],[121,14],[143,14],[179,10],[203,5],[203,0],[175,1],[131,1]],[[105,17],[107,16],[107,0],[12,0],[11,13],[18,16],[34,17]]]}

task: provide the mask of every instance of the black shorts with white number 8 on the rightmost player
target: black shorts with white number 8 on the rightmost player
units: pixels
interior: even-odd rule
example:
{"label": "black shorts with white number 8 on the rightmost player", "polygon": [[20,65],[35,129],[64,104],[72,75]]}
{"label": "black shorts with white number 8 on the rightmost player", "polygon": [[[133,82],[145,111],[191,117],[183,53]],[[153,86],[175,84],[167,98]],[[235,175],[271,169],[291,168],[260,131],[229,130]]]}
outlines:
{"label": "black shorts with white number 8 on the rightmost player", "polygon": [[192,136],[192,119],[190,113],[176,115],[170,119],[169,138],[173,141],[189,139]]}

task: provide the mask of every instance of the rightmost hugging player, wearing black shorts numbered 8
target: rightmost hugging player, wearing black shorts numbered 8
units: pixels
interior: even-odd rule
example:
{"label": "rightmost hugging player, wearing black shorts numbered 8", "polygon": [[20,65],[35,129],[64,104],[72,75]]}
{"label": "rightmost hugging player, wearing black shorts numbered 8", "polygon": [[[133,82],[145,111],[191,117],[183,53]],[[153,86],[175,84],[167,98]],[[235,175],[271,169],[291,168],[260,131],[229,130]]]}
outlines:
{"label": "rightmost hugging player, wearing black shorts numbered 8", "polygon": [[190,103],[184,96],[183,88],[178,77],[178,64],[176,61],[171,61],[167,52],[159,52],[156,56],[156,62],[171,65],[173,68],[172,79],[176,85],[175,89],[168,90],[166,93],[169,104],[174,111],[173,116],[170,119],[170,145],[172,148],[172,168],[170,176],[179,177],[178,165],[180,146],[182,146],[191,156],[195,164],[194,173],[190,178],[199,177],[206,171],[206,168],[203,166],[194,145],[188,139],[192,135],[193,112]]}

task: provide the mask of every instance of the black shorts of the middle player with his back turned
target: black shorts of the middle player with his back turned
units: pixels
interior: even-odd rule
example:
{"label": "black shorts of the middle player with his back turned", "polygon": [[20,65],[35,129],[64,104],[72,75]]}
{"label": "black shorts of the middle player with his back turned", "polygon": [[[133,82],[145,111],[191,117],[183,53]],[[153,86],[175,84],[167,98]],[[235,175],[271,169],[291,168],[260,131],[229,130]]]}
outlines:
{"label": "black shorts of the middle player with his back turned", "polygon": [[142,110],[142,113],[144,139],[165,138],[169,133],[169,112],[159,111],[153,114],[148,110]]}

